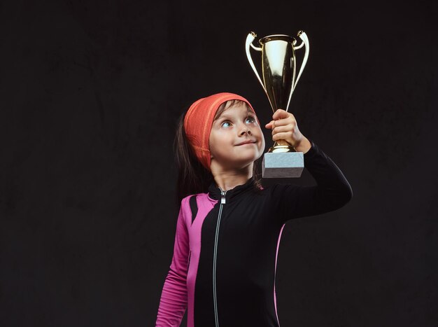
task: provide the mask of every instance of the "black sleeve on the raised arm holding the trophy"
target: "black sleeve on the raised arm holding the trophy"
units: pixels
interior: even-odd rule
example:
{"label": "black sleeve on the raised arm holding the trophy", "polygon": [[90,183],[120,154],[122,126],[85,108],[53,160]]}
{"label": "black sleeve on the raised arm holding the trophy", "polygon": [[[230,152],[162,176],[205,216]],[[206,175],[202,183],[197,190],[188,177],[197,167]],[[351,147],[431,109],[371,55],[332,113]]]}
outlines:
{"label": "black sleeve on the raised arm holding the trophy", "polygon": [[312,141],[304,153],[304,167],[315,179],[316,186],[277,184],[273,192],[277,218],[285,223],[292,218],[324,214],[344,207],[353,190],[337,165]]}

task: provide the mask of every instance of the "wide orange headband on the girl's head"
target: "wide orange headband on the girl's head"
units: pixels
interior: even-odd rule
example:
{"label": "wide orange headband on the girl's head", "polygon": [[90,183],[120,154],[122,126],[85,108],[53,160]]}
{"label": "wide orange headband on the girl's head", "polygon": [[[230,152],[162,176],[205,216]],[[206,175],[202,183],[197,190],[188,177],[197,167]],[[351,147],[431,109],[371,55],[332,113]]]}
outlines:
{"label": "wide orange headband on the girl's head", "polygon": [[[246,102],[250,109],[255,113],[253,106],[247,99],[234,93],[222,92],[210,95],[194,102],[184,118],[184,130],[188,137],[195,155],[207,170],[210,170],[210,131],[213,125],[213,118],[219,106],[228,100],[241,100]],[[257,116],[256,116],[257,118]],[[257,118],[257,123],[258,118]],[[260,124],[260,123],[259,123]]]}

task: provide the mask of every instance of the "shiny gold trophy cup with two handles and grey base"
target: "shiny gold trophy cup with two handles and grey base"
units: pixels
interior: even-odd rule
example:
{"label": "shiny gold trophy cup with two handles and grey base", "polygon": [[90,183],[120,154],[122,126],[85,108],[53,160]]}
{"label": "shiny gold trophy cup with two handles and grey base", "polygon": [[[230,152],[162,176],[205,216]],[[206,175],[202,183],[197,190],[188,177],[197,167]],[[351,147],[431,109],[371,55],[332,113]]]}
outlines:
{"label": "shiny gold trophy cup with two handles and grey base", "polygon": [[[297,36],[302,40],[299,46],[297,40],[288,35],[276,34],[264,36],[259,40],[261,48],[253,45],[257,34],[250,32],[246,37],[246,56],[253,67],[255,76],[257,76],[264,92],[269,99],[272,110],[277,109],[288,111],[290,98],[295,86],[306,66],[309,57],[309,39],[306,33],[299,31]],[[305,52],[299,73],[295,78],[297,71],[295,50],[304,46]],[[262,52],[262,76],[260,78],[257,69],[255,69],[253,59],[250,54],[250,47]],[[287,141],[278,140],[274,146],[264,153],[262,161],[263,178],[288,178],[300,177],[304,169],[304,156],[302,152],[295,151]]]}

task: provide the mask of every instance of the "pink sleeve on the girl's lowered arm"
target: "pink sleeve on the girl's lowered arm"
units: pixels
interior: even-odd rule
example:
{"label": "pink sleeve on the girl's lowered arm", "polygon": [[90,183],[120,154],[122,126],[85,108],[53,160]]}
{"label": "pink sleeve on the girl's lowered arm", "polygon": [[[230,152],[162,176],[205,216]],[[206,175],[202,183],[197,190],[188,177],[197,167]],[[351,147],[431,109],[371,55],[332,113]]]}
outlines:
{"label": "pink sleeve on the girl's lowered arm", "polygon": [[187,307],[186,279],[190,246],[183,216],[183,206],[187,205],[186,202],[187,198],[181,201],[176,222],[174,256],[164,281],[155,327],[180,326]]}

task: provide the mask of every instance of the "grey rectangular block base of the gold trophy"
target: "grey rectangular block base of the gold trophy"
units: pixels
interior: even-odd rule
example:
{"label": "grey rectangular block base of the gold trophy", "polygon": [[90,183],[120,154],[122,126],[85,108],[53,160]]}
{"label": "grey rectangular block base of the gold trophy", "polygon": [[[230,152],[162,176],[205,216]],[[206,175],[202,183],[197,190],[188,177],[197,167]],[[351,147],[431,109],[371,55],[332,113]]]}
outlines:
{"label": "grey rectangular block base of the gold trophy", "polygon": [[267,152],[263,155],[262,178],[264,179],[300,177],[303,169],[302,152]]}

